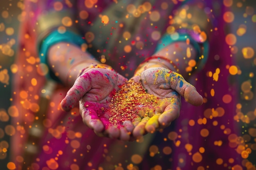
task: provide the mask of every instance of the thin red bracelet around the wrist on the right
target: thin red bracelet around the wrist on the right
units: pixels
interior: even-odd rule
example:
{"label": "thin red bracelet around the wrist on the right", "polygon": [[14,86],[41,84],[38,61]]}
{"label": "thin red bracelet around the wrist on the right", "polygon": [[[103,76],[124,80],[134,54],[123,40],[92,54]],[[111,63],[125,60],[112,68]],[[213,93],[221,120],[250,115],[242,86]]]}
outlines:
{"label": "thin red bracelet around the wrist on the right", "polygon": [[137,74],[137,71],[139,71],[139,69],[147,64],[147,63],[155,63],[155,64],[159,64],[161,66],[164,66],[165,68],[171,70],[171,68],[169,68],[168,66],[166,66],[164,63],[160,62],[160,61],[150,61],[151,59],[163,59],[165,61],[167,61],[168,63],[172,64],[173,68],[179,72],[179,69],[177,68],[177,66],[173,63],[173,61],[169,60],[168,58],[166,57],[162,57],[162,56],[151,56],[151,57],[148,57],[146,58],[146,60],[144,60],[143,62],[141,62],[141,64],[139,64],[139,66],[137,67],[137,69],[135,70],[135,74]]}

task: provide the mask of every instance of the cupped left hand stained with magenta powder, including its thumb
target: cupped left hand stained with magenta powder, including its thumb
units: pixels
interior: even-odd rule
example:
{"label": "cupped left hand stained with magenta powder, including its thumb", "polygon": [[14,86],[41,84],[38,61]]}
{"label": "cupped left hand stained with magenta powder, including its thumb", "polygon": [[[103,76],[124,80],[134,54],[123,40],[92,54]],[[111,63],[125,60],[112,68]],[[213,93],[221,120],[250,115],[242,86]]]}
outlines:
{"label": "cupped left hand stained with magenta powder, including its thumb", "polygon": [[99,136],[129,140],[134,128],[126,121],[122,126],[111,124],[104,109],[126,78],[109,68],[91,68],[82,73],[61,101],[61,107],[69,111],[79,104],[83,122]]}

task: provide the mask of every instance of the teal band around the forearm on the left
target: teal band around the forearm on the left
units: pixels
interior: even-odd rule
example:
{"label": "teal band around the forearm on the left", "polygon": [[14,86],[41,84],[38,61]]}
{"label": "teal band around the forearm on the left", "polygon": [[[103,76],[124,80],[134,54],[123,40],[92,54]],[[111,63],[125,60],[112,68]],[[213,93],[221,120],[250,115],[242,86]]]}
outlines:
{"label": "teal band around the forearm on the left", "polygon": [[70,44],[75,44],[78,46],[81,46],[81,44],[85,43],[85,40],[82,38],[81,35],[78,35],[76,33],[73,33],[71,31],[66,31],[65,33],[59,33],[57,30],[50,33],[40,44],[39,47],[39,56],[40,56],[40,62],[44,63],[48,66],[49,72],[46,75],[47,78],[54,79],[57,82],[61,82],[58,77],[55,76],[53,71],[50,69],[48,61],[47,61],[47,53],[49,48],[57,44],[58,42],[67,42]]}

